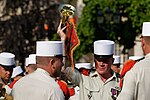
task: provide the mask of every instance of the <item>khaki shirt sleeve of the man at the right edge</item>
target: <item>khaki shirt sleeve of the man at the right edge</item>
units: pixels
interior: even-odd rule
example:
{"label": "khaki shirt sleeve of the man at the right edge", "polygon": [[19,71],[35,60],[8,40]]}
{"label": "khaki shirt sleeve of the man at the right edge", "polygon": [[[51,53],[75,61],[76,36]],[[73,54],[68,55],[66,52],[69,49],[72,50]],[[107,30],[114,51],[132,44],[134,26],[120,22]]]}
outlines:
{"label": "khaki shirt sleeve of the man at the right edge", "polygon": [[133,69],[124,76],[123,88],[117,100],[133,100],[136,87],[136,74]]}

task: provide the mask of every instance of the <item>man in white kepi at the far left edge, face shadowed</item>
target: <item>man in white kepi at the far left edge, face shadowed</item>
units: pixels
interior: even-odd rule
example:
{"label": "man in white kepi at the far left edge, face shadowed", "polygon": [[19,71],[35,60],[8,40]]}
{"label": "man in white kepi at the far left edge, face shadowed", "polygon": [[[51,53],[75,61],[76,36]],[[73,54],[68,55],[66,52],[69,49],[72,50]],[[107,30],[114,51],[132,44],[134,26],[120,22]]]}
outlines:
{"label": "man in white kepi at the far left edge, face shadowed", "polygon": [[9,52],[0,53],[0,89],[5,88],[10,94],[10,83],[13,68],[15,67],[15,55]]}

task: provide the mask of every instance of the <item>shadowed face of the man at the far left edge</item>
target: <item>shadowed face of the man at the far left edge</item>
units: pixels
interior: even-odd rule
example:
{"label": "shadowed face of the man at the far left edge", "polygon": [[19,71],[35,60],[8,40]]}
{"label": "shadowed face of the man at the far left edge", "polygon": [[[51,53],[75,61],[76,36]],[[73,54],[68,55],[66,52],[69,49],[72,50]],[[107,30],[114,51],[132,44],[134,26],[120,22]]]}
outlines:
{"label": "shadowed face of the man at the far left edge", "polygon": [[13,68],[0,66],[0,77],[3,80],[8,81],[11,78],[12,72],[13,72]]}

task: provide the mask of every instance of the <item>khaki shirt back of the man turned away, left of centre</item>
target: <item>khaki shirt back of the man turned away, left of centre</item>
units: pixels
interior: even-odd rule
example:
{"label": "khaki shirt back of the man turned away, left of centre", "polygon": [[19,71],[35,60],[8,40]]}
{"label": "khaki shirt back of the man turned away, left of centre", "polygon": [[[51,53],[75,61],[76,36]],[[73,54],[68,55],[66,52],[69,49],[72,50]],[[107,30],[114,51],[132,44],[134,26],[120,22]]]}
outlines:
{"label": "khaki shirt back of the man turned away, left of centre", "polygon": [[57,82],[40,68],[18,80],[12,95],[14,100],[65,100]]}

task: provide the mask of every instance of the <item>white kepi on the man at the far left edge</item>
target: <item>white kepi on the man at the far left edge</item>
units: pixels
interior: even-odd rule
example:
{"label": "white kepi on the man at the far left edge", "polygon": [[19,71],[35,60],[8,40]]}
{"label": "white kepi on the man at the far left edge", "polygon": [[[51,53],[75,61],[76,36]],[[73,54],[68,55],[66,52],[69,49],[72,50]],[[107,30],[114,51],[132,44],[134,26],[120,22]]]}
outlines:
{"label": "white kepi on the man at the far left edge", "polygon": [[15,65],[15,55],[9,52],[0,53],[0,64],[4,66]]}

